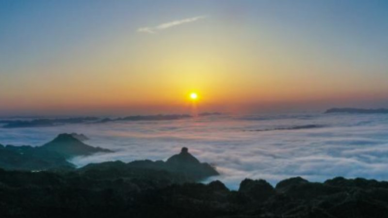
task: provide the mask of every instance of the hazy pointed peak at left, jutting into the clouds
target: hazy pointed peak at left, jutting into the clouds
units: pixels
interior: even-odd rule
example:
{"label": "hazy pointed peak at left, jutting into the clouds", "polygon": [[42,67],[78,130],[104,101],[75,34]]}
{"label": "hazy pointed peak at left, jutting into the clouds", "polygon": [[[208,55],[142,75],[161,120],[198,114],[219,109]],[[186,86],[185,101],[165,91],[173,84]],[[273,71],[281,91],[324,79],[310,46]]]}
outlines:
{"label": "hazy pointed peak at left, jutting into the clouds", "polygon": [[54,140],[44,144],[41,148],[57,152],[66,158],[87,156],[98,152],[112,152],[109,149],[87,145],[76,137],[72,134],[63,133],[58,135]]}

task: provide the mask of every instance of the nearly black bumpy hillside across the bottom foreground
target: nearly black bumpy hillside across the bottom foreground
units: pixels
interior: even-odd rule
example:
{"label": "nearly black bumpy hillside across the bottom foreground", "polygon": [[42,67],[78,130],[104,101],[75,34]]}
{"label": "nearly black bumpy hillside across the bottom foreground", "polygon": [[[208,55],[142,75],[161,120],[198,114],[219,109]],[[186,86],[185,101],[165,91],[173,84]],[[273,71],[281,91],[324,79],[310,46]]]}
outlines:
{"label": "nearly black bumpy hillside across the bottom foreground", "polygon": [[300,177],[272,187],[186,183],[164,171],[0,171],[4,218],[386,218],[388,183]]}

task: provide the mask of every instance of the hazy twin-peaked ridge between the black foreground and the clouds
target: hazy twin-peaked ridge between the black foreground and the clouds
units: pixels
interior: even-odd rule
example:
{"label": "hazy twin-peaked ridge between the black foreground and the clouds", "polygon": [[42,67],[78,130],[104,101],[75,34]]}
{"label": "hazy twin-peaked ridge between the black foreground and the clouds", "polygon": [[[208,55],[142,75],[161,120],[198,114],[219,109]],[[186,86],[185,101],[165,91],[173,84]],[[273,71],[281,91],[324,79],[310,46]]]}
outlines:
{"label": "hazy twin-peaked ridge between the black foreground and the clouds", "polygon": [[[54,140],[40,147],[32,146],[3,146],[0,144],[0,168],[7,170],[41,171],[52,169],[73,169],[74,165],[67,161],[74,156],[87,156],[98,152],[112,152],[111,150],[92,147],[77,138],[87,138],[83,134],[58,135]],[[164,181],[172,180],[177,183],[194,182],[218,172],[208,163],[201,163],[182,148],[177,155],[171,156],[166,162],[162,160],[136,160],[130,163],[121,161],[89,164],[78,170],[79,172],[106,171],[121,176],[137,178],[153,178]]]}

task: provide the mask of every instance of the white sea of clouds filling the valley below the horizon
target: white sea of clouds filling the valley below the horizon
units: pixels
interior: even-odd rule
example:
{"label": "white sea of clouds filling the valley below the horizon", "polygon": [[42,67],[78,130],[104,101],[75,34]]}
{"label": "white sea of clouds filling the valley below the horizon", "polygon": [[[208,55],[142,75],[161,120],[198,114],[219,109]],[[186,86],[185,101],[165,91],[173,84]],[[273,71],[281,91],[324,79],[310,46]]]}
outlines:
{"label": "white sea of clouds filling the valley below the horizon", "polygon": [[[316,126],[276,130],[306,125]],[[244,178],[261,178],[273,185],[293,176],[310,181],[335,176],[388,180],[388,115],[384,114],[222,115],[0,128],[0,143],[40,146],[64,132],[83,133],[90,138],[85,143],[115,151],[72,159],[78,166],[110,160],[165,160],[184,146],[221,173],[204,182],[217,179],[232,189]]]}

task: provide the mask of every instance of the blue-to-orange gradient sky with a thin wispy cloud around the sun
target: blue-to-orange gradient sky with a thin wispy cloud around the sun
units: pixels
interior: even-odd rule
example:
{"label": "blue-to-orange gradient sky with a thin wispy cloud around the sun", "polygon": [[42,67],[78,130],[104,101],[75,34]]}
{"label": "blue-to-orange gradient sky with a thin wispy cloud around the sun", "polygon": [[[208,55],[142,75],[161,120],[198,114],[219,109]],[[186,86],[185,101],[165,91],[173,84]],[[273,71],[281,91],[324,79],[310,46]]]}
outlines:
{"label": "blue-to-orange gradient sky with a thin wispy cloud around the sun", "polygon": [[385,0],[2,0],[0,115],[388,107]]}

